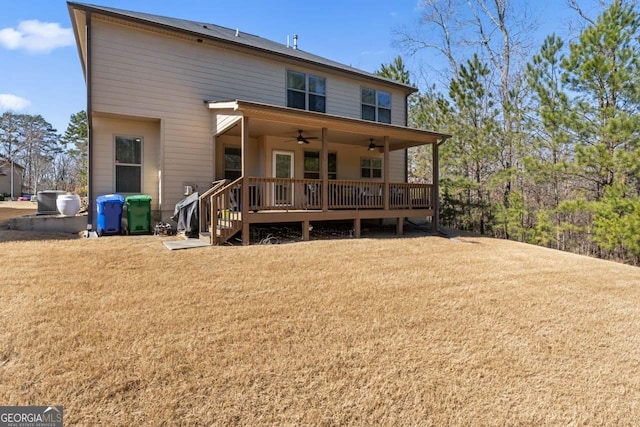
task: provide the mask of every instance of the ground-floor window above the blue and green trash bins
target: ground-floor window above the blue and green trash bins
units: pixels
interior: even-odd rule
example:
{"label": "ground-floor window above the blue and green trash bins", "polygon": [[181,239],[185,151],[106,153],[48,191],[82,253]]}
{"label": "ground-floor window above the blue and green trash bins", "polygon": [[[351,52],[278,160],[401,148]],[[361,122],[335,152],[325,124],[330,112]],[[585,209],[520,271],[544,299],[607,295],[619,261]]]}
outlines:
{"label": "ground-floor window above the blue and green trash bins", "polygon": [[142,138],[116,136],[116,193],[142,192]]}

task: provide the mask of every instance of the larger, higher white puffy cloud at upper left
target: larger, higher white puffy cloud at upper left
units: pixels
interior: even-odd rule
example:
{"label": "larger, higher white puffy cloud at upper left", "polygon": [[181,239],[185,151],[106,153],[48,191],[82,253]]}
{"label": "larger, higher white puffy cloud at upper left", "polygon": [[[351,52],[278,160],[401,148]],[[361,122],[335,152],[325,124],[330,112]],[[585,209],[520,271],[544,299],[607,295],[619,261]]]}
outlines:
{"label": "larger, higher white puffy cloud at upper left", "polygon": [[73,44],[71,28],[62,28],[54,22],[21,21],[17,28],[0,30],[0,46],[11,50],[24,49],[30,53],[47,53]]}

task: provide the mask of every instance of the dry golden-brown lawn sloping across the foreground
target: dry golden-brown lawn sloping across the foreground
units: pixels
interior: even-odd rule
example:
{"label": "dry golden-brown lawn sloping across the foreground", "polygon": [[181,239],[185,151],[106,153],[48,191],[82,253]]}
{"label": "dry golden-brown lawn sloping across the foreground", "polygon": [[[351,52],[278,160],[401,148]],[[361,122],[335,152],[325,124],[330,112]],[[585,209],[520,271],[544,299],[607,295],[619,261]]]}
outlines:
{"label": "dry golden-brown lawn sloping across the foreground", "polygon": [[0,231],[0,404],[65,425],[637,425],[640,269],[480,237]]}

